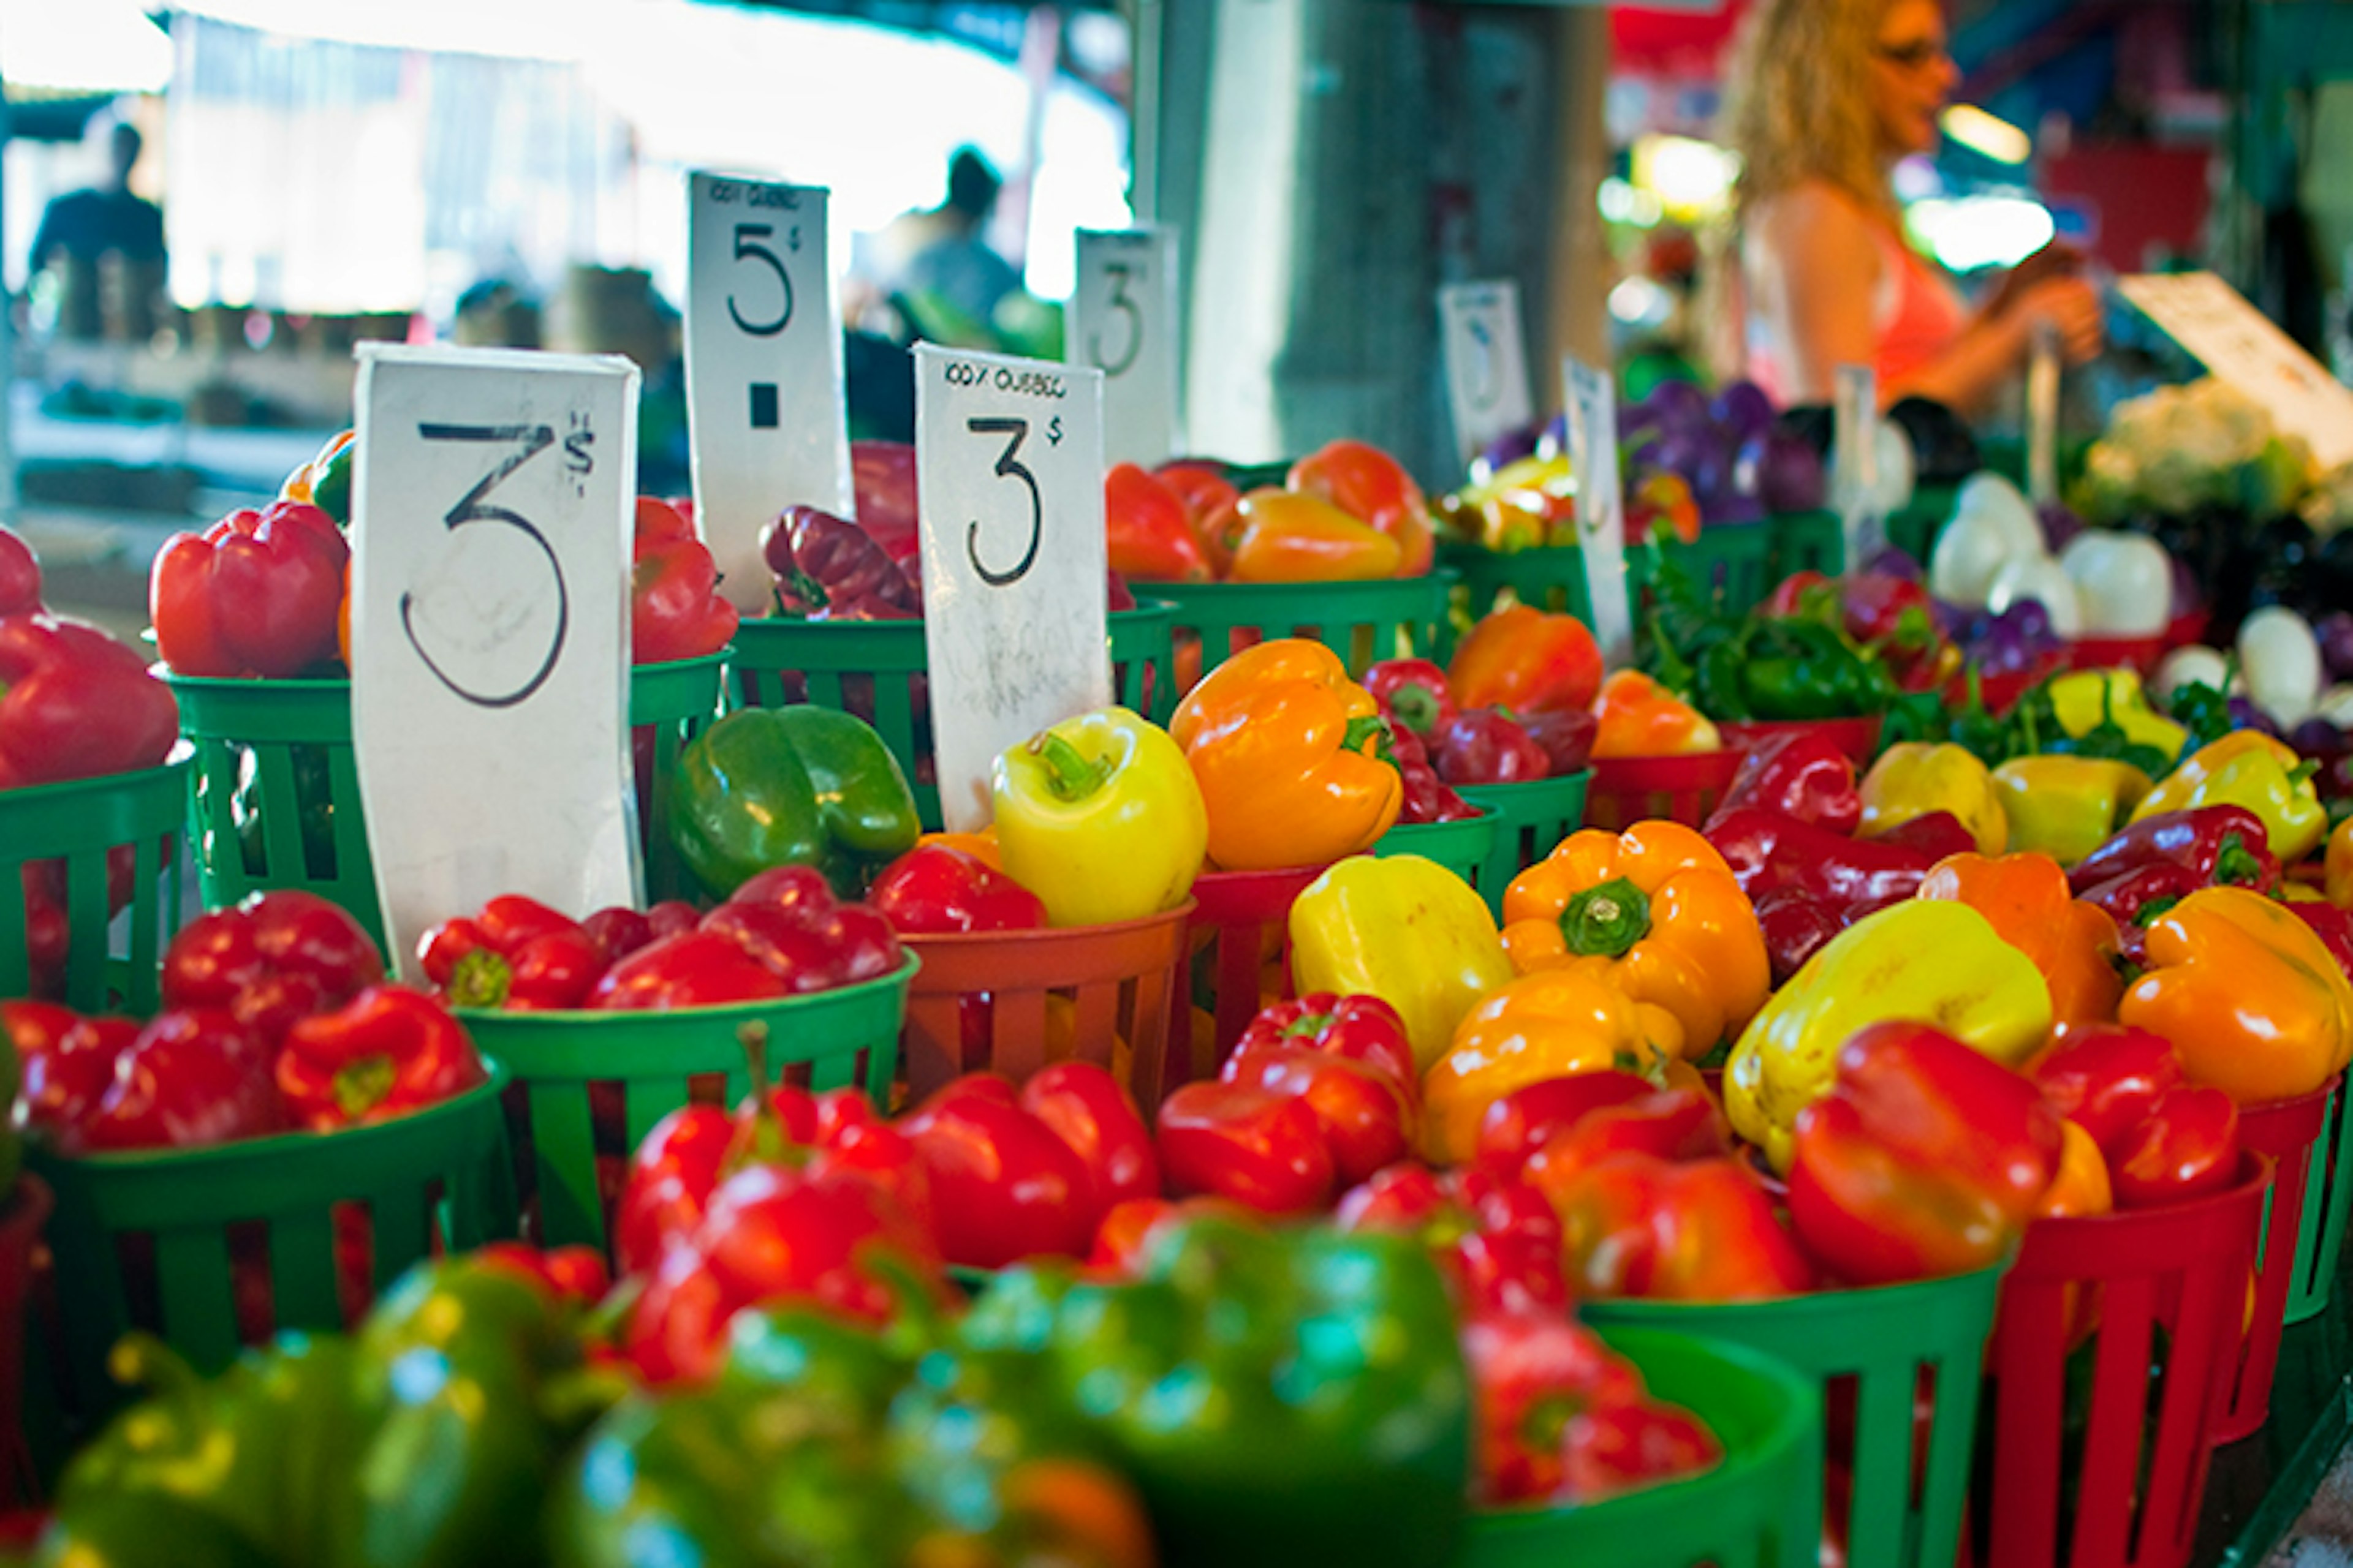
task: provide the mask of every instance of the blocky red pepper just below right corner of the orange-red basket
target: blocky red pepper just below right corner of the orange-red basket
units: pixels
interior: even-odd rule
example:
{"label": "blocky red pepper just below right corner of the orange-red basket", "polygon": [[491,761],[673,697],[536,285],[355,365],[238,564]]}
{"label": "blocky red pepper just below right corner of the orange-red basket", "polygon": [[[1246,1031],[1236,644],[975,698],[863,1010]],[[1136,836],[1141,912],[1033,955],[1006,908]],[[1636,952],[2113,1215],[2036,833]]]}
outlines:
{"label": "blocky red pepper just below right corner of the orange-red basket", "polygon": [[1249,1084],[1186,1084],[1160,1103],[1160,1175],[1176,1197],[1214,1194],[1245,1208],[1304,1215],[1332,1194],[1322,1119],[1292,1095]]}

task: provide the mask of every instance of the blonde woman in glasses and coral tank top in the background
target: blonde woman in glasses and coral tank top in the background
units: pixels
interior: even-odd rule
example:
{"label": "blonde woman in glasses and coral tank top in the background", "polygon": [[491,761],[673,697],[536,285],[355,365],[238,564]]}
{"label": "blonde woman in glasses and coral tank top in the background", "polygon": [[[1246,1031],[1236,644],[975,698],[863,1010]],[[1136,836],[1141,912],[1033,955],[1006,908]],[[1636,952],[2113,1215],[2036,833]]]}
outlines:
{"label": "blonde woman in glasses and coral tank top in the background", "polygon": [[2099,294],[2049,247],[1969,310],[1904,244],[1887,183],[1937,148],[1958,71],[1937,0],[1758,0],[1727,92],[1741,155],[1734,313],[1748,376],[1774,402],[1828,402],[1840,364],[1871,364],[1880,402],[1981,409],[2038,327],[2071,362],[2099,353]]}

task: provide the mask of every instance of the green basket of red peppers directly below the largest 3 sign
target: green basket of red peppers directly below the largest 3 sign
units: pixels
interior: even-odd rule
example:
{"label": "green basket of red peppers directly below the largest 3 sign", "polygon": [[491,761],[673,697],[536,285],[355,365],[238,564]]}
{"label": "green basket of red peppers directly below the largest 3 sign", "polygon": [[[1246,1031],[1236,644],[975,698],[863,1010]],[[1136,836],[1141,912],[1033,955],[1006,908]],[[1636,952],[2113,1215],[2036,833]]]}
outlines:
{"label": "green basket of red peppers directly below the largest 3 sign", "polygon": [[[861,985],[671,1013],[461,1011],[482,1053],[513,1074],[506,1112],[522,1208],[536,1213],[532,1239],[609,1251],[628,1152],[687,1100],[734,1105],[751,1093],[739,1037],[748,1023],[767,1025],[779,1079],[812,1091],[856,1084],[887,1107],[915,969],[908,954],[896,973]],[[598,1126],[598,1100],[616,1126]]]}

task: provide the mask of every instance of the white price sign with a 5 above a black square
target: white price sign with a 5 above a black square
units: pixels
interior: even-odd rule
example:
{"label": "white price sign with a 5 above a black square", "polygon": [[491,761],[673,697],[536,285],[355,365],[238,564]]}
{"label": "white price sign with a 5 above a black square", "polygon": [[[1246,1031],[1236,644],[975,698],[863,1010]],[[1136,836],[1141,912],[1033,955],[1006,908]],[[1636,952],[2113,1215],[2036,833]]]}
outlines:
{"label": "white price sign with a 5 above a black square", "polygon": [[795,503],[854,505],[821,186],[687,176],[687,435],[720,592],[765,611],[760,529]]}

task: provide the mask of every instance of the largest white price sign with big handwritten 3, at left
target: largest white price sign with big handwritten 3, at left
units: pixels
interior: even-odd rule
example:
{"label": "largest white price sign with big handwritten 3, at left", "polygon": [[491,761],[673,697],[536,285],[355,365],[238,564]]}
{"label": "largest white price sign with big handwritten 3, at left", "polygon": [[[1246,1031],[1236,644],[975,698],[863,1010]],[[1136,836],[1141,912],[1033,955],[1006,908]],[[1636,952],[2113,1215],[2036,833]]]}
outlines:
{"label": "largest white price sign with big handwritten 3, at left", "polygon": [[638,367],[360,348],[351,724],[398,966],[499,893],[638,898]]}

